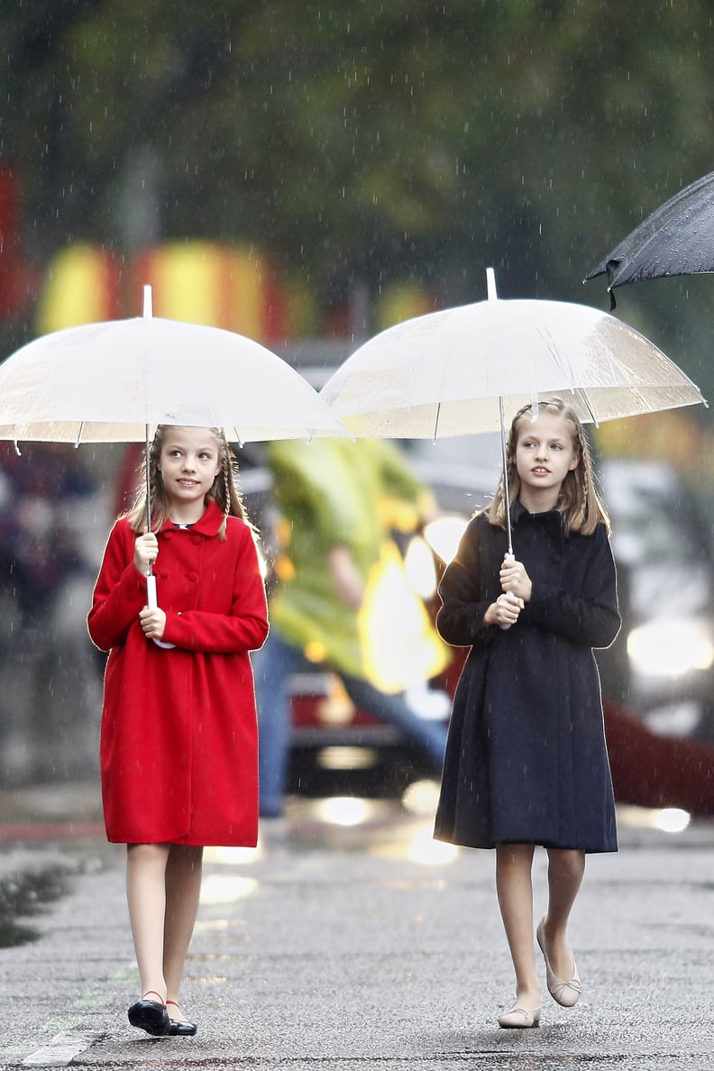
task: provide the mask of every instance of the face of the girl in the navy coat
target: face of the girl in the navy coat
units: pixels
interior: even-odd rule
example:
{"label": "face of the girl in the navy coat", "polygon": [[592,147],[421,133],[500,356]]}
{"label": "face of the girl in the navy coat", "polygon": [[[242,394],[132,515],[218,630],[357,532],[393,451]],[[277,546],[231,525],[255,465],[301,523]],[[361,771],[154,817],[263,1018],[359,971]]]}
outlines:
{"label": "face of the girl in the navy coat", "polygon": [[535,421],[529,417],[522,420],[516,439],[521,497],[526,492],[540,499],[552,499],[546,507],[555,507],[563,480],[579,462],[573,434],[563,417],[544,412]]}

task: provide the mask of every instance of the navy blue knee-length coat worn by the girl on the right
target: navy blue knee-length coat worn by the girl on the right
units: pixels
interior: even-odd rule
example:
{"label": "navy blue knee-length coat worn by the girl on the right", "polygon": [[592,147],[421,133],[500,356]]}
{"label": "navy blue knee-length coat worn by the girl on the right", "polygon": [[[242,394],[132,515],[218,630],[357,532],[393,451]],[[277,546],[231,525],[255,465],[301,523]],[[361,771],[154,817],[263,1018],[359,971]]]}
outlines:
{"label": "navy blue knee-length coat worn by the girl on the right", "polygon": [[469,524],[440,586],[437,628],[471,646],[454,696],[435,836],[470,847],[616,851],[612,782],[592,649],[620,629],[604,525],[566,537],[561,514],[513,509],[513,548],[533,582],[516,624],[485,627],[501,594],[506,533]]}

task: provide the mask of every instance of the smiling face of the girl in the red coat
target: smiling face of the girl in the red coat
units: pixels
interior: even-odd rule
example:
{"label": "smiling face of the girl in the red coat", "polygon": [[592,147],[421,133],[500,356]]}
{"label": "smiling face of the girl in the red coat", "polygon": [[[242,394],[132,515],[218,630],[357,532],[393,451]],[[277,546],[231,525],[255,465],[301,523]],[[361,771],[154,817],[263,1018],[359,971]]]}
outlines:
{"label": "smiling face of the girl in the red coat", "polygon": [[[158,470],[173,509],[203,512],[203,500],[221,471],[215,432],[210,427],[170,427],[166,432]],[[199,510],[200,507],[200,510]]]}

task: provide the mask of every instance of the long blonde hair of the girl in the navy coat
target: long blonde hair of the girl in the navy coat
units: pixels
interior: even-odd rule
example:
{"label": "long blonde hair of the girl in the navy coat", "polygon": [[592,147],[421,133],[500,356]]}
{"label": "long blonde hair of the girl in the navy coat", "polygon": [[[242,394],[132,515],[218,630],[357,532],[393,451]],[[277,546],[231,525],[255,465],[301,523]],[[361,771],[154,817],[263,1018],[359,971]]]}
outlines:
{"label": "long blonde hair of the girl in the navy coat", "polygon": [[[577,466],[565,476],[558,497],[558,509],[563,515],[565,534],[581,532],[592,536],[598,524],[605,525],[610,533],[610,519],[607,510],[597,494],[593,476],[590,446],[580,419],[572,406],[560,397],[538,402],[537,412],[532,416],[532,406],[525,405],[518,410],[511,424],[511,433],[506,442],[506,472],[508,477],[508,508],[516,501],[520,492],[520,478],[516,468],[516,446],[518,434],[528,420],[535,420],[542,413],[561,417],[573,436],[573,447],[578,458]],[[499,482],[493,500],[486,509],[486,514],[492,525],[505,528],[505,485],[503,474]]]}

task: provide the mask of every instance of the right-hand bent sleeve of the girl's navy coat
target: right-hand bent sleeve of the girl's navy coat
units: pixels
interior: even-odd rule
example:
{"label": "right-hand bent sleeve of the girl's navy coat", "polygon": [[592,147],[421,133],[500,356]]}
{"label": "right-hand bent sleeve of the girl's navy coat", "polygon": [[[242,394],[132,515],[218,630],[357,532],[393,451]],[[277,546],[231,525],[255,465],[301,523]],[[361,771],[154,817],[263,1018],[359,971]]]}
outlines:
{"label": "right-hand bent sleeve of the girl's navy coat", "polygon": [[621,623],[610,541],[602,524],[592,537],[581,539],[591,546],[581,591],[574,594],[550,584],[535,583],[523,620],[588,647],[609,647]]}

